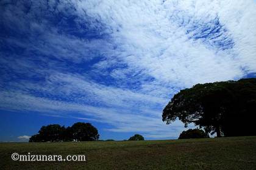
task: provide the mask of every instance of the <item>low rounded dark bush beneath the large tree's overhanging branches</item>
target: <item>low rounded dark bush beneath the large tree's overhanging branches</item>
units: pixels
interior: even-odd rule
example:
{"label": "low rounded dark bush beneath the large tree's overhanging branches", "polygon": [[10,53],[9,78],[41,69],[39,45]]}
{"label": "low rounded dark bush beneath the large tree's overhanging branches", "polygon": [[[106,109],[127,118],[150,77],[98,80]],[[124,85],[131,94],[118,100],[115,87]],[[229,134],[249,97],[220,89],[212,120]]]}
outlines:
{"label": "low rounded dark bush beneath the large tree's overhanging branches", "polygon": [[183,138],[207,138],[209,137],[202,129],[188,129],[187,131],[183,131],[179,139]]}

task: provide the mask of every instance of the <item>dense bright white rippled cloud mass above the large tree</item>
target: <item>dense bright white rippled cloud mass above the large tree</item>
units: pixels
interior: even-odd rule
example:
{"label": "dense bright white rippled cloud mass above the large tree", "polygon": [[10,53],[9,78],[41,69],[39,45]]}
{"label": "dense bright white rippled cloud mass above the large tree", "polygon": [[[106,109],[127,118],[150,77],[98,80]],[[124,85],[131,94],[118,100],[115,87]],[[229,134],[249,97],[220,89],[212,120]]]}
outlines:
{"label": "dense bright white rippled cloud mass above the large tree", "polygon": [[[109,25],[116,43],[121,44],[119,60],[127,63],[129,69],[142,69],[157,81],[189,87],[243,77],[241,68],[255,71],[256,21],[252,19],[255,15],[252,1],[74,1],[74,4],[80,15],[87,10],[89,15]],[[213,27],[216,17],[223,29],[208,40],[210,44],[204,39],[190,39],[191,35],[186,33],[189,28]],[[214,41],[227,38],[234,41],[232,49],[211,46]]]}

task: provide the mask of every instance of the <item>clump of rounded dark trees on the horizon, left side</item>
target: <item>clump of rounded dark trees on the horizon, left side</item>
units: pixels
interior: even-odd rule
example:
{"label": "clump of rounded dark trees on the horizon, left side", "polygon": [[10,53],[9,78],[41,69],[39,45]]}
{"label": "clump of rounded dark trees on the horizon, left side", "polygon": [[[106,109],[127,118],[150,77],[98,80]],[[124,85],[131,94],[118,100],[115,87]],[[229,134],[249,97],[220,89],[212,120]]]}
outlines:
{"label": "clump of rounded dark trees on the horizon, left side", "polygon": [[32,135],[29,142],[38,141],[95,141],[99,139],[98,130],[90,123],[77,122],[71,127],[49,124],[42,126],[38,134]]}

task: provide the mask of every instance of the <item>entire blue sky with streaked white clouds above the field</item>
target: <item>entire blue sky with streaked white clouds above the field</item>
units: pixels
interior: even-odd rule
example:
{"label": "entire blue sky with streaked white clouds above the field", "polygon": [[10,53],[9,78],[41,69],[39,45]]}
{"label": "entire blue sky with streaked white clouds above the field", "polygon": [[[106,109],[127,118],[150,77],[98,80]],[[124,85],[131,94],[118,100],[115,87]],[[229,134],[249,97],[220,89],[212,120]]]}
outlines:
{"label": "entire blue sky with streaked white clouds above the field", "polygon": [[180,89],[255,77],[255,1],[0,5],[0,141],[77,121],[101,139],[177,138],[162,109]]}

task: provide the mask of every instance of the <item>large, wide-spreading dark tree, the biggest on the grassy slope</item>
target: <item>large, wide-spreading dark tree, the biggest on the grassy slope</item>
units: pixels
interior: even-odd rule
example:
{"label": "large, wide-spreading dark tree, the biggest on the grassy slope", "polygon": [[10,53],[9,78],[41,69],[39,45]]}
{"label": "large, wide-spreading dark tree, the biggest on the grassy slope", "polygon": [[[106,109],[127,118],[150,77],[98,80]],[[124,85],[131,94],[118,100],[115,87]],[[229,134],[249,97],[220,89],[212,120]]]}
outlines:
{"label": "large, wide-spreading dark tree, the biggest on the grassy slope", "polygon": [[221,135],[256,135],[256,79],[196,84],[180,90],[163,109],[167,124],[177,118]]}

